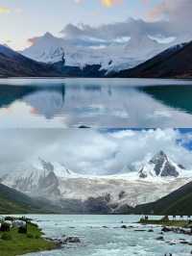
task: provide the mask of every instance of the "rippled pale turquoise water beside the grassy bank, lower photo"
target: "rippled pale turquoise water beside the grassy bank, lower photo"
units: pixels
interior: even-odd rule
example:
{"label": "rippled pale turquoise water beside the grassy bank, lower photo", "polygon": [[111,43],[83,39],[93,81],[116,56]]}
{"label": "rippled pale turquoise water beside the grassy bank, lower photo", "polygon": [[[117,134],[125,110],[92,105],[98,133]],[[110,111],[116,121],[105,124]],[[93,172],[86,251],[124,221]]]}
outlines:
{"label": "rippled pale turquoise water beside the grassy bank, lower photo", "polygon": [[[28,254],[31,256],[173,256],[190,255],[191,246],[180,244],[181,239],[191,241],[189,236],[168,232],[165,242],[157,241],[160,227],[135,224],[135,216],[30,216],[50,238],[78,236],[82,243],[64,245],[59,250]],[[121,229],[121,221],[131,228]],[[108,228],[104,228],[107,226]],[[140,231],[139,231],[140,230]],[[141,231],[145,230],[145,231]],[[169,243],[178,243],[170,245]]]}

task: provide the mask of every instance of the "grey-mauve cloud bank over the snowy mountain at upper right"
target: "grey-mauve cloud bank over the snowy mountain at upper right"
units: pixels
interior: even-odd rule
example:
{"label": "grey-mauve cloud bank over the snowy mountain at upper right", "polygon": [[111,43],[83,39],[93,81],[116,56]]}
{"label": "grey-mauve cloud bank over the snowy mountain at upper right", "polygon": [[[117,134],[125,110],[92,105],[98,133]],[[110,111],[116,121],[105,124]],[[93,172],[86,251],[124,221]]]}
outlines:
{"label": "grey-mauve cloud bank over the snowy mountain at upper right", "polygon": [[[103,1],[104,5],[110,7],[122,1]],[[143,4],[149,1],[142,1]],[[192,1],[191,0],[162,0],[149,13],[146,19],[129,18],[122,22],[104,24],[98,27],[90,25],[68,24],[61,33],[64,38],[103,39],[104,44],[115,42],[119,38],[142,38],[146,36],[154,38],[177,38],[174,43],[191,40],[192,30],[189,24],[192,22]]]}

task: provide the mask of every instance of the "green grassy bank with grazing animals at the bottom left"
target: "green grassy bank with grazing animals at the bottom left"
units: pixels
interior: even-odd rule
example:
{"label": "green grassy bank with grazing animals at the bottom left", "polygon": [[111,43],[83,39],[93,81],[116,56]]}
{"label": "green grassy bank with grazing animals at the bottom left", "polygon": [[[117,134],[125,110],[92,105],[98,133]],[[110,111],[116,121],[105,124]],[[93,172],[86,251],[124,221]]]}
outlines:
{"label": "green grassy bank with grazing animals at the bottom left", "polygon": [[[8,239],[4,240],[5,237]],[[27,234],[19,234],[17,228],[12,228],[10,232],[0,232],[1,256],[16,256],[55,248],[57,244],[42,238],[42,232],[33,223],[28,223]]]}

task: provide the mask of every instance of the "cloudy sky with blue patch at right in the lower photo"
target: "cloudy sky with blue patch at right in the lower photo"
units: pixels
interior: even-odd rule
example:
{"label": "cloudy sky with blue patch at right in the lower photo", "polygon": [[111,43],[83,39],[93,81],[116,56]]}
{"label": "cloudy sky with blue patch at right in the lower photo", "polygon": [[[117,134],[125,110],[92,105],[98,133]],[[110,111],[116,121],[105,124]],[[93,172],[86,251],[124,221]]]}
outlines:
{"label": "cloudy sky with blue patch at right in the lower photo", "polygon": [[141,167],[159,150],[192,169],[192,130],[2,130],[0,144],[1,173],[38,157],[80,173],[118,173]]}

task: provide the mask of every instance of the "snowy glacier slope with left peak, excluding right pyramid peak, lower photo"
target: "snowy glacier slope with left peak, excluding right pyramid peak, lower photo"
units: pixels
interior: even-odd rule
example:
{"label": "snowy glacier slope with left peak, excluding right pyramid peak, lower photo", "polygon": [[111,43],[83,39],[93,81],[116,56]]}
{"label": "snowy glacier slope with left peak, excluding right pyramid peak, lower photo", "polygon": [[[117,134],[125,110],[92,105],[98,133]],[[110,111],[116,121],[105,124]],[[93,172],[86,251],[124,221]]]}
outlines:
{"label": "snowy glacier slope with left peak, excluding right pyramid peak, lower photo", "polygon": [[[108,204],[117,208],[125,204],[134,207],[138,204],[154,202],[190,181],[180,173],[178,176],[178,172],[177,175],[172,175],[173,168],[165,168],[166,171],[164,170],[163,173],[166,175],[150,175],[145,178],[139,177],[137,171],[90,176],[75,173],[60,163],[49,163],[38,159],[32,164],[15,166],[12,173],[2,177],[2,183],[32,197],[40,196],[51,200],[61,206],[63,211],[70,213],[71,204],[74,209],[73,202],[79,202],[80,205],[86,201],[90,204],[92,202],[103,204],[103,198],[107,194],[110,197]],[[89,197],[92,199],[89,200]],[[76,211],[77,208],[78,206]]]}

